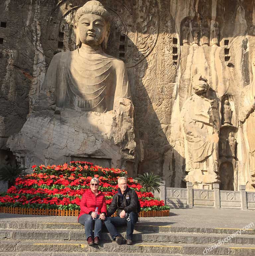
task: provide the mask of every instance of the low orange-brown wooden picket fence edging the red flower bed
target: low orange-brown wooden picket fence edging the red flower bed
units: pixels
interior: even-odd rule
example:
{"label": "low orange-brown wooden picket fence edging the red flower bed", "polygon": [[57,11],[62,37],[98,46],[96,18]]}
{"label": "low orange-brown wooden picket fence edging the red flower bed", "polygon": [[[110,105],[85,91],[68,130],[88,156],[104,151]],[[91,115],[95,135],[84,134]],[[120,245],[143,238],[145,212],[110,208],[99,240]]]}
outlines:
{"label": "low orange-brown wooden picket fence edging the red flower bed", "polygon": [[[27,214],[27,215],[78,216],[80,211],[0,206],[0,212],[13,213],[13,214]],[[116,217],[117,213],[115,212],[113,216]],[[139,212],[139,217],[164,217],[164,216],[169,216],[169,210]]]}

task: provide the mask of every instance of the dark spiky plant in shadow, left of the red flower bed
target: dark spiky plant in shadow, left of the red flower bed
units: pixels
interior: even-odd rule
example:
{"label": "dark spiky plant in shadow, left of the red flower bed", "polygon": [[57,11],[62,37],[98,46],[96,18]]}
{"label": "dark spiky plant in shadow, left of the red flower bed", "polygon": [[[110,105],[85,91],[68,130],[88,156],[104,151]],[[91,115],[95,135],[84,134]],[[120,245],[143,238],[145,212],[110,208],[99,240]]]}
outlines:
{"label": "dark spiky plant in shadow, left of the red flower bed", "polygon": [[25,172],[27,168],[22,165],[2,165],[0,166],[0,181],[8,182],[10,188],[15,184],[18,177],[23,177],[28,173]]}

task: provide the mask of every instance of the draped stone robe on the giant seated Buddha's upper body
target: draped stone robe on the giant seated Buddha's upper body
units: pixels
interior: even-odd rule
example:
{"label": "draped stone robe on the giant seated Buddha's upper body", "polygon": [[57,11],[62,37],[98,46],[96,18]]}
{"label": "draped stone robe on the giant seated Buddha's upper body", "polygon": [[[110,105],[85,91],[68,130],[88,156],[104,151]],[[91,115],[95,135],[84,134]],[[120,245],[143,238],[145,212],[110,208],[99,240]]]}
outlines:
{"label": "draped stone robe on the giant seated Buddha's upper body", "polygon": [[118,98],[131,100],[124,62],[103,51],[75,50],[53,57],[37,105],[104,113]]}

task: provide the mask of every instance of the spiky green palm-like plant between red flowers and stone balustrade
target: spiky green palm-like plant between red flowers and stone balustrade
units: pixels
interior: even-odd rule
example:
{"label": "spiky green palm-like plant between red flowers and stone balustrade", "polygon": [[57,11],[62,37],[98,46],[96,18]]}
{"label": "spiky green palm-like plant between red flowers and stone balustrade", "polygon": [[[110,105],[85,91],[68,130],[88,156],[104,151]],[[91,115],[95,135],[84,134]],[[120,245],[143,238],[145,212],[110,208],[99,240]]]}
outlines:
{"label": "spiky green palm-like plant between red flowers and stone balustrade", "polygon": [[161,178],[153,173],[139,174],[136,178],[137,182],[140,183],[146,192],[153,192],[156,190],[160,192],[159,186],[162,183]]}

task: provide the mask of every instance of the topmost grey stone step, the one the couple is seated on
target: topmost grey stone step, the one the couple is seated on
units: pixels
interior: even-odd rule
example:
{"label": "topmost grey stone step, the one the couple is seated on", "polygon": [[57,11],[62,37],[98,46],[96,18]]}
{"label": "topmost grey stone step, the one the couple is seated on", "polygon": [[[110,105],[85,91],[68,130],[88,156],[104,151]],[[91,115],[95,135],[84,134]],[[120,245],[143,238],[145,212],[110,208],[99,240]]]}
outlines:
{"label": "topmost grey stone step, the one the couple is seated on", "polygon": [[[1,221],[0,228],[21,228],[21,229],[83,229],[83,226],[77,222],[8,222]],[[241,230],[242,234],[255,234],[255,229],[238,228],[199,228],[199,227],[178,227],[178,226],[155,226],[136,223],[137,231],[154,232],[182,232],[182,233],[214,233],[214,234],[233,234]]]}

